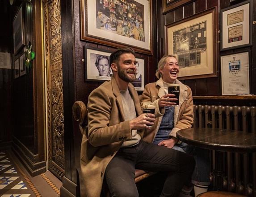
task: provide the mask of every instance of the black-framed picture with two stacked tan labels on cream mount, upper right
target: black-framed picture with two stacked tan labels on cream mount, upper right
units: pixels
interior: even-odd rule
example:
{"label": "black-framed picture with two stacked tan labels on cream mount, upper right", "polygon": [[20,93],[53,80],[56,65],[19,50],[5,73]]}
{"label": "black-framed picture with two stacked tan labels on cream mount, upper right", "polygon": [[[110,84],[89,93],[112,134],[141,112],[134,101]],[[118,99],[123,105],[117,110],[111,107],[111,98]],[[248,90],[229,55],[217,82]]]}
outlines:
{"label": "black-framed picture with two stacked tan labels on cream mount, upper right", "polygon": [[220,23],[221,51],[252,45],[252,0],[222,9]]}

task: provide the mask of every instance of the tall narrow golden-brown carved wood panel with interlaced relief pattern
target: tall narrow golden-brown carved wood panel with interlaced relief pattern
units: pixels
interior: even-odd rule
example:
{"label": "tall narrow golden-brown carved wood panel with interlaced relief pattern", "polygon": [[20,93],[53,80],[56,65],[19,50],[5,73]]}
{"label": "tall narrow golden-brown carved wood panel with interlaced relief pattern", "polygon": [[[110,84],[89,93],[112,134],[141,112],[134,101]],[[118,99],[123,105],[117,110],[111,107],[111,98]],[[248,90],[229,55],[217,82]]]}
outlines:
{"label": "tall narrow golden-brown carved wood panel with interlaced relief pattern", "polygon": [[64,176],[63,66],[60,0],[45,0],[45,52],[48,120],[48,169]]}

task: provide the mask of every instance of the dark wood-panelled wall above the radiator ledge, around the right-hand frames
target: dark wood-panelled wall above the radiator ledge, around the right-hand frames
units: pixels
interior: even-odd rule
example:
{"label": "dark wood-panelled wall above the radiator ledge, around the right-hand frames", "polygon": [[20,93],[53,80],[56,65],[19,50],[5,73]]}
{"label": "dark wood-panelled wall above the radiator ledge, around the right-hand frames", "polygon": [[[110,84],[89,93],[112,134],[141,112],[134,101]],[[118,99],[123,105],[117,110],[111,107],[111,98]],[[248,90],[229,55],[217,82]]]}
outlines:
{"label": "dark wood-panelled wall above the radiator ledge, around the right-hand frames", "polygon": [[[235,3],[239,3],[241,1],[236,1]],[[233,3],[234,4],[234,3]],[[162,0],[158,1],[158,8],[157,8],[157,16],[159,25],[157,26],[158,29],[158,41],[161,39],[163,40],[163,45],[158,45],[158,51],[163,50],[165,53],[165,35],[164,35],[164,26],[170,25],[176,21],[180,21],[184,18],[189,16],[193,16],[193,14],[197,14],[198,12],[202,12],[206,9],[212,8],[216,6],[218,8],[218,12],[223,9],[227,8],[233,4],[230,4],[230,0],[192,0],[187,4],[181,5],[178,8],[171,10],[163,15],[162,9]],[[253,0],[253,10],[256,8],[256,0]],[[165,17],[165,22],[164,22]],[[253,12],[253,19],[252,21],[256,21],[256,12]],[[219,26],[219,21],[218,24]],[[182,80],[186,85],[188,85],[193,92],[193,96],[212,96],[212,95],[221,95],[221,66],[220,66],[220,56],[230,54],[230,53],[239,53],[243,50],[248,50],[251,52],[250,57],[250,93],[256,94],[256,78],[253,77],[256,75],[256,34],[255,34],[256,25],[253,25],[253,45],[251,47],[246,47],[242,49],[234,49],[234,50],[227,50],[220,52],[218,55],[218,65],[217,65],[217,75],[218,77],[213,78],[198,78],[198,79],[189,79],[189,80]],[[219,44],[217,45],[219,47]]]}

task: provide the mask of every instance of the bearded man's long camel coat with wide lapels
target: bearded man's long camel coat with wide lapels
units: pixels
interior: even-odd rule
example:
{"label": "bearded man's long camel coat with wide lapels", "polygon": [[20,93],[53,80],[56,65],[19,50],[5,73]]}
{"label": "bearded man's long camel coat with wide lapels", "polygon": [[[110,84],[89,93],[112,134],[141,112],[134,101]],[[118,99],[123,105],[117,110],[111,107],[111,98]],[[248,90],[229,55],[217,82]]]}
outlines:
{"label": "bearded man's long camel coat with wide lapels", "polygon": [[[137,116],[142,113],[137,91],[129,83]],[[93,90],[88,98],[88,129],[81,144],[81,172],[87,197],[100,197],[105,168],[124,140],[132,139],[125,121],[122,97],[115,78]],[[143,137],[143,130],[137,133]]]}

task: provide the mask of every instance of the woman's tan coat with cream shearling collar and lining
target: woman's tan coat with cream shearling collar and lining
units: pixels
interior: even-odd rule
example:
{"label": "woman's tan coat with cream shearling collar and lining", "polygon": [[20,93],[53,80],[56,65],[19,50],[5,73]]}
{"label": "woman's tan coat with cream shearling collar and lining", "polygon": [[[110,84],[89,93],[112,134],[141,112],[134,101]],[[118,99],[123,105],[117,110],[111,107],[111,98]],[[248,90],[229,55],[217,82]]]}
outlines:
{"label": "woman's tan coat with cream shearling collar and lining", "polygon": [[[174,127],[170,133],[170,137],[176,138],[176,133],[180,129],[191,128],[193,125],[193,98],[192,91],[189,86],[184,85],[176,79],[175,83],[180,85],[180,100],[179,105],[174,107]],[[158,101],[164,96],[164,82],[160,78],[157,82],[149,83],[145,86],[141,97],[141,105],[143,102],[155,103],[155,114],[164,115],[164,107],[159,109]],[[143,140],[152,143],[155,135],[160,127],[163,116],[155,119],[155,124],[150,130],[146,130],[143,135]]]}

